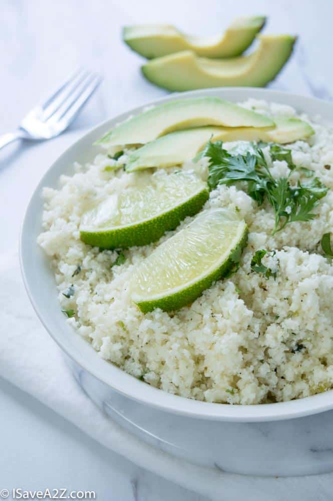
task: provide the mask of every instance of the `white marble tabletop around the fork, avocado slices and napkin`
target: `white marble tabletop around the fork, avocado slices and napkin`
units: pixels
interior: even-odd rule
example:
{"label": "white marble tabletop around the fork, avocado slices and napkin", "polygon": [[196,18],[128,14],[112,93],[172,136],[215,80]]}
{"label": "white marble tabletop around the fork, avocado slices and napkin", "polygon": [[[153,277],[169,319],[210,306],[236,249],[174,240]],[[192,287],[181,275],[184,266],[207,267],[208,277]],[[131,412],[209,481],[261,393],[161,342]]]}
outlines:
{"label": "white marble tabletop around the fork, avocado slices and napkin", "polygon": [[[101,71],[105,81],[71,133],[50,143],[17,144],[1,152],[0,252],[16,245],[23,210],[36,183],[82,128],[164,94],[142,79],[140,58],[121,44],[123,24],[162,21],[188,32],[210,33],[218,32],[236,15],[261,13],[269,16],[267,31],[300,35],[295,57],[274,87],[330,97],[333,6],[326,0],[283,0],[269,6],[256,0],[206,0],[202,5],[194,0],[3,0],[0,133],[13,129],[46,90],[78,65]],[[2,335],[5,333],[4,329]],[[103,500],[204,499],[104,449],[4,381],[0,381],[0,405],[0,438],[5,451],[0,454],[0,488],[95,488]],[[270,482],[260,485],[250,477],[239,484],[226,480],[225,491],[216,492],[214,498],[279,501],[286,496],[305,500],[332,497],[333,474]]]}

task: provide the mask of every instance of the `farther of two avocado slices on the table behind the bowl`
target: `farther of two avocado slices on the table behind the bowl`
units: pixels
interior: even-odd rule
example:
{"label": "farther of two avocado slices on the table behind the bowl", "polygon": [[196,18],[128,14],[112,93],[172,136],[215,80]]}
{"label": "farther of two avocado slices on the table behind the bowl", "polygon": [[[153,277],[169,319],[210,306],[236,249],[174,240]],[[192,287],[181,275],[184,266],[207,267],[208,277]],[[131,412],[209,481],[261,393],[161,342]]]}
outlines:
{"label": "farther of two avocado slices on the table behind the bowl", "polygon": [[169,25],[125,26],[123,40],[148,59],[186,50],[206,58],[232,58],[251,45],[265,21],[263,16],[238,18],[222,35],[214,37],[191,37]]}

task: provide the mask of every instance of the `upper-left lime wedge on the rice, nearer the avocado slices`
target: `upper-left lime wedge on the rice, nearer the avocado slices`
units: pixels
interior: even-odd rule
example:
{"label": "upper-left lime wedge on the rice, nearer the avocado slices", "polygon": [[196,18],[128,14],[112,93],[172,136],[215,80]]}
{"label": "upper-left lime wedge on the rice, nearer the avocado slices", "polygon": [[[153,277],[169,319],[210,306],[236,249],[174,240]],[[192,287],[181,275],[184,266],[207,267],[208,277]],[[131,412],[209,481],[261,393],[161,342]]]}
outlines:
{"label": "upper-left lime wedge on the rice, nearer the avocado slices", "polygon": [[101,248],[146,245],[196,214],[208,196],[207,184],[191,172],[139,174],[135,186],[84,214],[80,237]]}

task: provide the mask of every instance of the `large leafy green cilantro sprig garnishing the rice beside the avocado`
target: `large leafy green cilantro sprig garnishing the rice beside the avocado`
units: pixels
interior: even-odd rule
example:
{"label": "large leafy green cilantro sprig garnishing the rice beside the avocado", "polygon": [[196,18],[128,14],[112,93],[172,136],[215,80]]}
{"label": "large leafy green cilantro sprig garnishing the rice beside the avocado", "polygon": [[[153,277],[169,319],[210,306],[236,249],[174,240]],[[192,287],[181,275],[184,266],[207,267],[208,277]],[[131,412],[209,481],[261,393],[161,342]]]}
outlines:
{"label": "large leafy green cilantro sprig garnishing the rice beside the avocado", "polygon": [[[279,147],[273,150],[277,156],[292,162],[290,150]],[[277,155],[277,156],[276,156]],[[328,188],[318,178],[302,184],[298,181],[292,186],[289,177],[274,179],[269,171],[264,153],[260,145],[252,145],[252,152],[232,155],[223,148],[222,141],[209,141],[203,151],[208,157],[208,185],[211,189],[218,184],[231,185],[239,181],[247,184],[247,191],[258,205],[268,200],[273,207],[275,224],[273,234],[280,231],[288,223],[294,221],[309,221],[315,217],[312,212],[319,200],[324,197]],[[289,168],[295,168],[288,163]]]}

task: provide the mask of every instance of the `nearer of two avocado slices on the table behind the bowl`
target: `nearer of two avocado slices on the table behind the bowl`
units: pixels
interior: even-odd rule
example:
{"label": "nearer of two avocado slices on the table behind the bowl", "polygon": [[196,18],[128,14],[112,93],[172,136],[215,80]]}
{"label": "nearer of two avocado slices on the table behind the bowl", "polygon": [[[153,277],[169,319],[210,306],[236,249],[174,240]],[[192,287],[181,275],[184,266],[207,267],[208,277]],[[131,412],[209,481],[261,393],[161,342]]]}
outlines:
{"label": "nearer of two avocado slices on the table behind the bowl", "polygon": [[149,61],[142,73],[155,85],[171,91],[206,87],[263,87],[289,59],[296,38],[258,35],[259,47],[248,56],[223,61],[199,58],[191,51]]}

